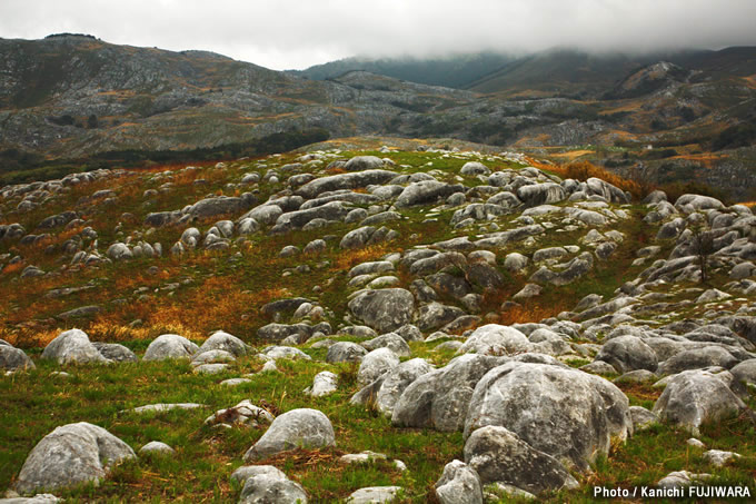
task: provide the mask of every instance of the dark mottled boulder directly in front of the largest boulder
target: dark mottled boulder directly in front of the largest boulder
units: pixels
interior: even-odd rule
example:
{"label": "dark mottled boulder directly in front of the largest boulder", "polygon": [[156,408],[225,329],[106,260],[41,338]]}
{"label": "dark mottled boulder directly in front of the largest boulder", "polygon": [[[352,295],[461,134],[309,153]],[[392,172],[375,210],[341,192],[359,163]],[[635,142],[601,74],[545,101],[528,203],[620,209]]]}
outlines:
{"label": "dark mottled boulder directly in front of the largest boulder", "polygon": [[484,484],[501,482],[535,495],[578,486],[557,458],[500,426],[472,432],[465,443],[465,463]]}

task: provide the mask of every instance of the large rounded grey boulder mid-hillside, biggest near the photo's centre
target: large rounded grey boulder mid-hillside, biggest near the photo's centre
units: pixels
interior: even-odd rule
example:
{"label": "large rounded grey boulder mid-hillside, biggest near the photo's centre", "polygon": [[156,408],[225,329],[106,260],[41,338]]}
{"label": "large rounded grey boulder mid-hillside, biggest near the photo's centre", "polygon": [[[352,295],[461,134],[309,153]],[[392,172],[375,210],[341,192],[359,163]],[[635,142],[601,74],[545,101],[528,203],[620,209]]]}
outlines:
{"label": "large rounded grey boulder mid-hillside, biggest near the photo's centre", "polygon": [[352,298],[348,306],[355,317],[380,333],[410,323],[415,314],[415,298],[400,288],[367,290]]}

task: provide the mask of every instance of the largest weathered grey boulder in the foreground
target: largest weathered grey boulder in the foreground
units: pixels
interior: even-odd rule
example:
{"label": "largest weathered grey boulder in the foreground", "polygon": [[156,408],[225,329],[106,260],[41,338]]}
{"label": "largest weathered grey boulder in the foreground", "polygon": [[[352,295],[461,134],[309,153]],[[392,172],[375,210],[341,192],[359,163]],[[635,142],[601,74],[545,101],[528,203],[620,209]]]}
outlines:
{"label": "largest weathered grey boulder in the foreground", "polygon": [[476,385],[465,434],[487,425],[506,427],[580,471],[608,454],[613,438],[633,434],[628,399],[611,383],[573,368],[519,362],[495,367]]}

